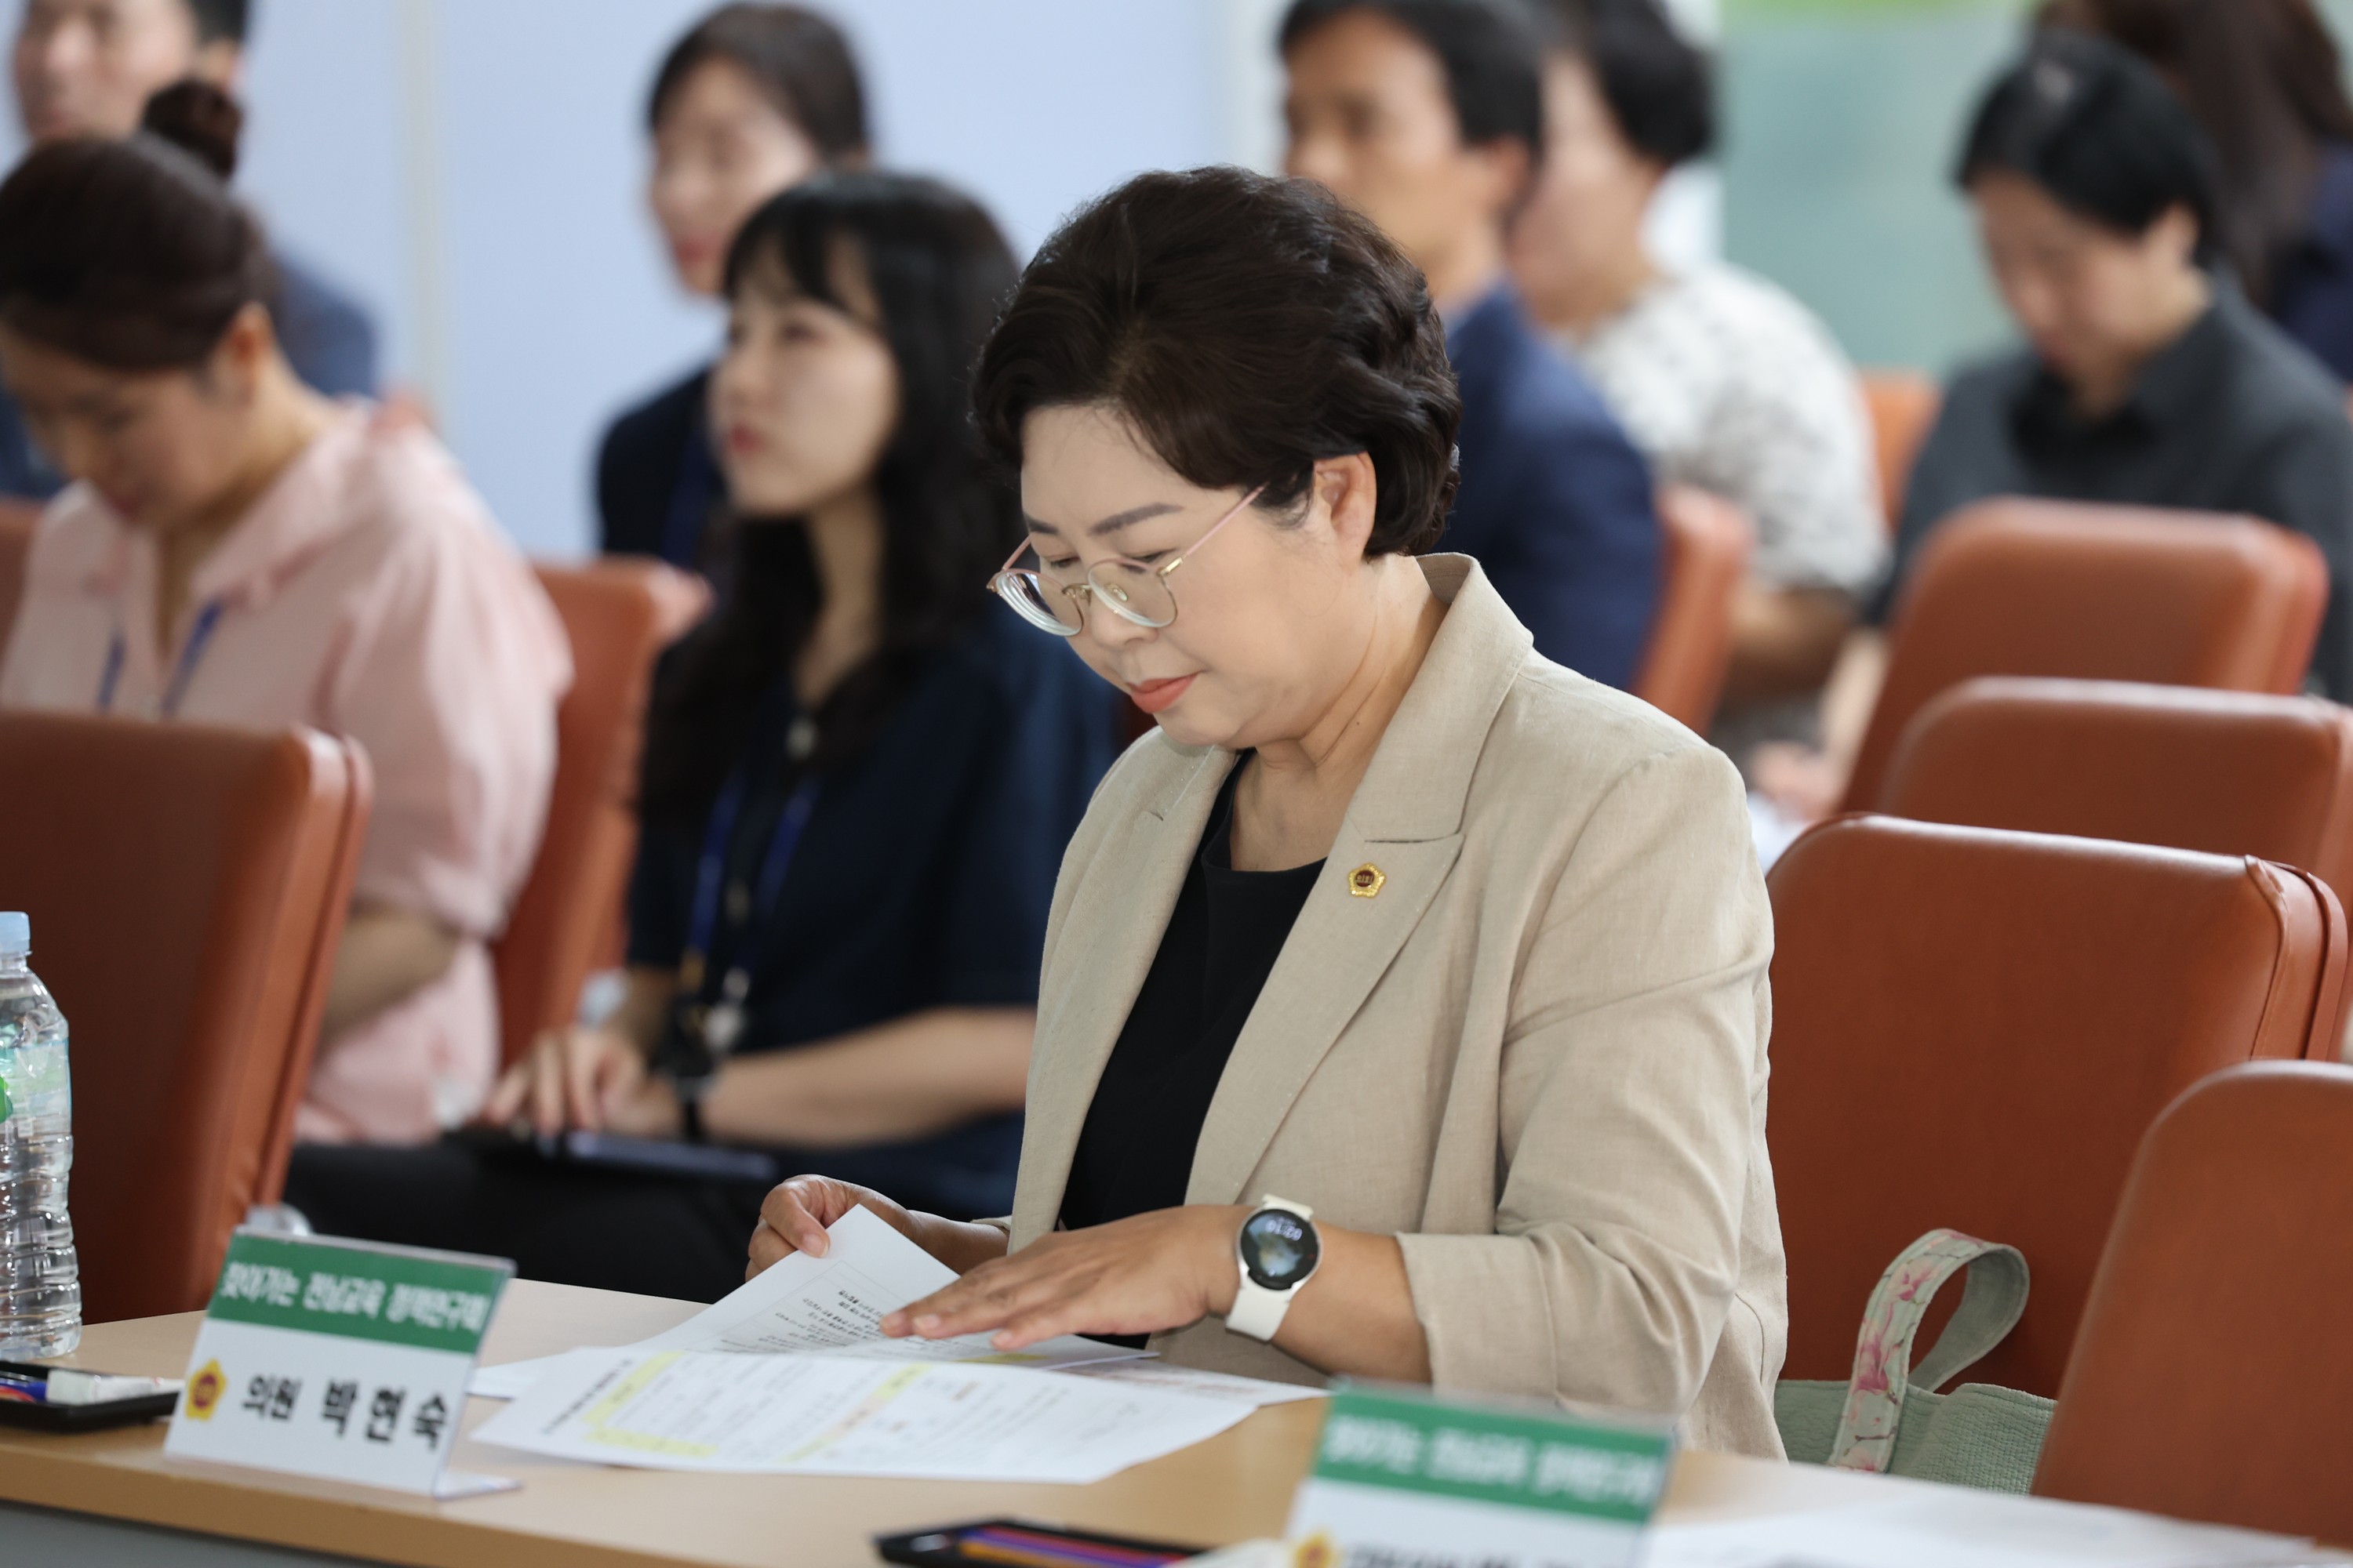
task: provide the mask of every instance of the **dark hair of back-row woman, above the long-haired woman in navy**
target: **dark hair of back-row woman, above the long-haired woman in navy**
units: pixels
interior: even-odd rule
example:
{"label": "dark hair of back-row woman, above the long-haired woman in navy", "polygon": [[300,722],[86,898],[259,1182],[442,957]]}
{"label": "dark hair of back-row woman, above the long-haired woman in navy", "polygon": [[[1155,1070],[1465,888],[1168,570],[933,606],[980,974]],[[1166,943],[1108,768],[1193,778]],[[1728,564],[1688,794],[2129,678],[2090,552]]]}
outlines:
{"label": "dark hair of back-row woman, above the long-haired woman in navy", "polygon": [[727,61],[800,127],[828,165],[868,153],[866,82],[849,40],[828,19],[800,5],[722,5],[671,45],[645,101],[645,127],[661,129],[678,89],[701,66]]}

